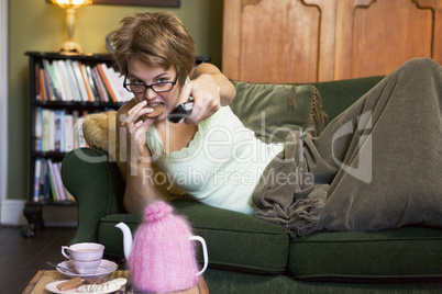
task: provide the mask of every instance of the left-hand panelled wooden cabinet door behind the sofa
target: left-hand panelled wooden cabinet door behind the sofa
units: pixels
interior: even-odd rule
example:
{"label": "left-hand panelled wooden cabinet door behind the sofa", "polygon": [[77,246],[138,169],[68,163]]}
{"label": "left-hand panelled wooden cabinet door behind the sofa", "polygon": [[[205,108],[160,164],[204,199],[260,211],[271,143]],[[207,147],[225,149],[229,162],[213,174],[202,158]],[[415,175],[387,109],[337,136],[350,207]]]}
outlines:
{"label": "left-hand panelled wooden cabinet door behind the sofa", "polygon": [[244,81],[314,81],[319,26],[318,8],[300,0],[224,0],[222,70]]}

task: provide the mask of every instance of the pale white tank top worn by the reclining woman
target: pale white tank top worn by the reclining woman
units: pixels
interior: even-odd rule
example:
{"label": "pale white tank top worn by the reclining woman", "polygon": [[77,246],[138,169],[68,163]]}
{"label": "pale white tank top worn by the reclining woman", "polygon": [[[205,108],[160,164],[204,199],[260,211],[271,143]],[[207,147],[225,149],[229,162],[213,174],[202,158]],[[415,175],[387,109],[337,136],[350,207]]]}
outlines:
{"label": "pale white tank top worn by the reclining woman", "polygon": [[178,151],[165,151],[154,125],[146,140],[155,165],[184,192],[205,204],[245,214],[253,213],[251,195],[265,167],[284,149],[284,144],[255,138],[230,106],[200,122],[189,146]]}

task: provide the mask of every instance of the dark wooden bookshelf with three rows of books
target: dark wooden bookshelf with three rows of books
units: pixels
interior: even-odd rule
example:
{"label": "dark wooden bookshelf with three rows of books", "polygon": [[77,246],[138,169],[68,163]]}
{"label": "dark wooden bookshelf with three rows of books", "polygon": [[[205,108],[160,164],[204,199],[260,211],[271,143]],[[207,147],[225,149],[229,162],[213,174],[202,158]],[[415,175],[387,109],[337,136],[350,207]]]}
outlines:
{"label": "dark wooden bookshelf with three rows of books", "polygon": [[117,110],[131,99],[108,54],[60,55],[26,52],[29,57],[29,174],[23,211],[31,237],[44,228],[45,205],[75,201],[59,177],[64,156],[84,147],[81,122],[88,113]]}

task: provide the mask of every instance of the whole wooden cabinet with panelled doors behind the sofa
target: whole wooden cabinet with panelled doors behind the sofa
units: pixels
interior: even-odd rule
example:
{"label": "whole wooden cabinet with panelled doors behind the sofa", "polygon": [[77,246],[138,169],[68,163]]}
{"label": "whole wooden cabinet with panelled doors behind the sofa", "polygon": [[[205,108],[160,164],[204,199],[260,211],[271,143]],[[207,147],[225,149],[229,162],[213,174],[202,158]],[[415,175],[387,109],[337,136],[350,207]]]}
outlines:
{"label": "whole wooden cabinet with panelled doors behind the sofa", "polygon": [[442,0],[224,0],[231,79],[312,82],[442,63]]}

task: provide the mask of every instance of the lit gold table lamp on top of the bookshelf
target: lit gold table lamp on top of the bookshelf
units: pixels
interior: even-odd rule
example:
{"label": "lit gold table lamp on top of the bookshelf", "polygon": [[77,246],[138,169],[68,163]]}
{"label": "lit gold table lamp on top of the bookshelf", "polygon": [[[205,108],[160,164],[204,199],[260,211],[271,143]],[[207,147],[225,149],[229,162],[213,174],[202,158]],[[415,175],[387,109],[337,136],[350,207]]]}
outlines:
{"label": "lit gold table lamp on top of the bookshelf", "polygon": [[76,55],[82,54],[82,47],[80,44],[74,41],[75,29],[75,9],[89,5],[92,0],[49,0],[54,4],[57,4],[66,9],[66,27],[67,27],[67,41],[64,42],[59,48],[60,54]]}

